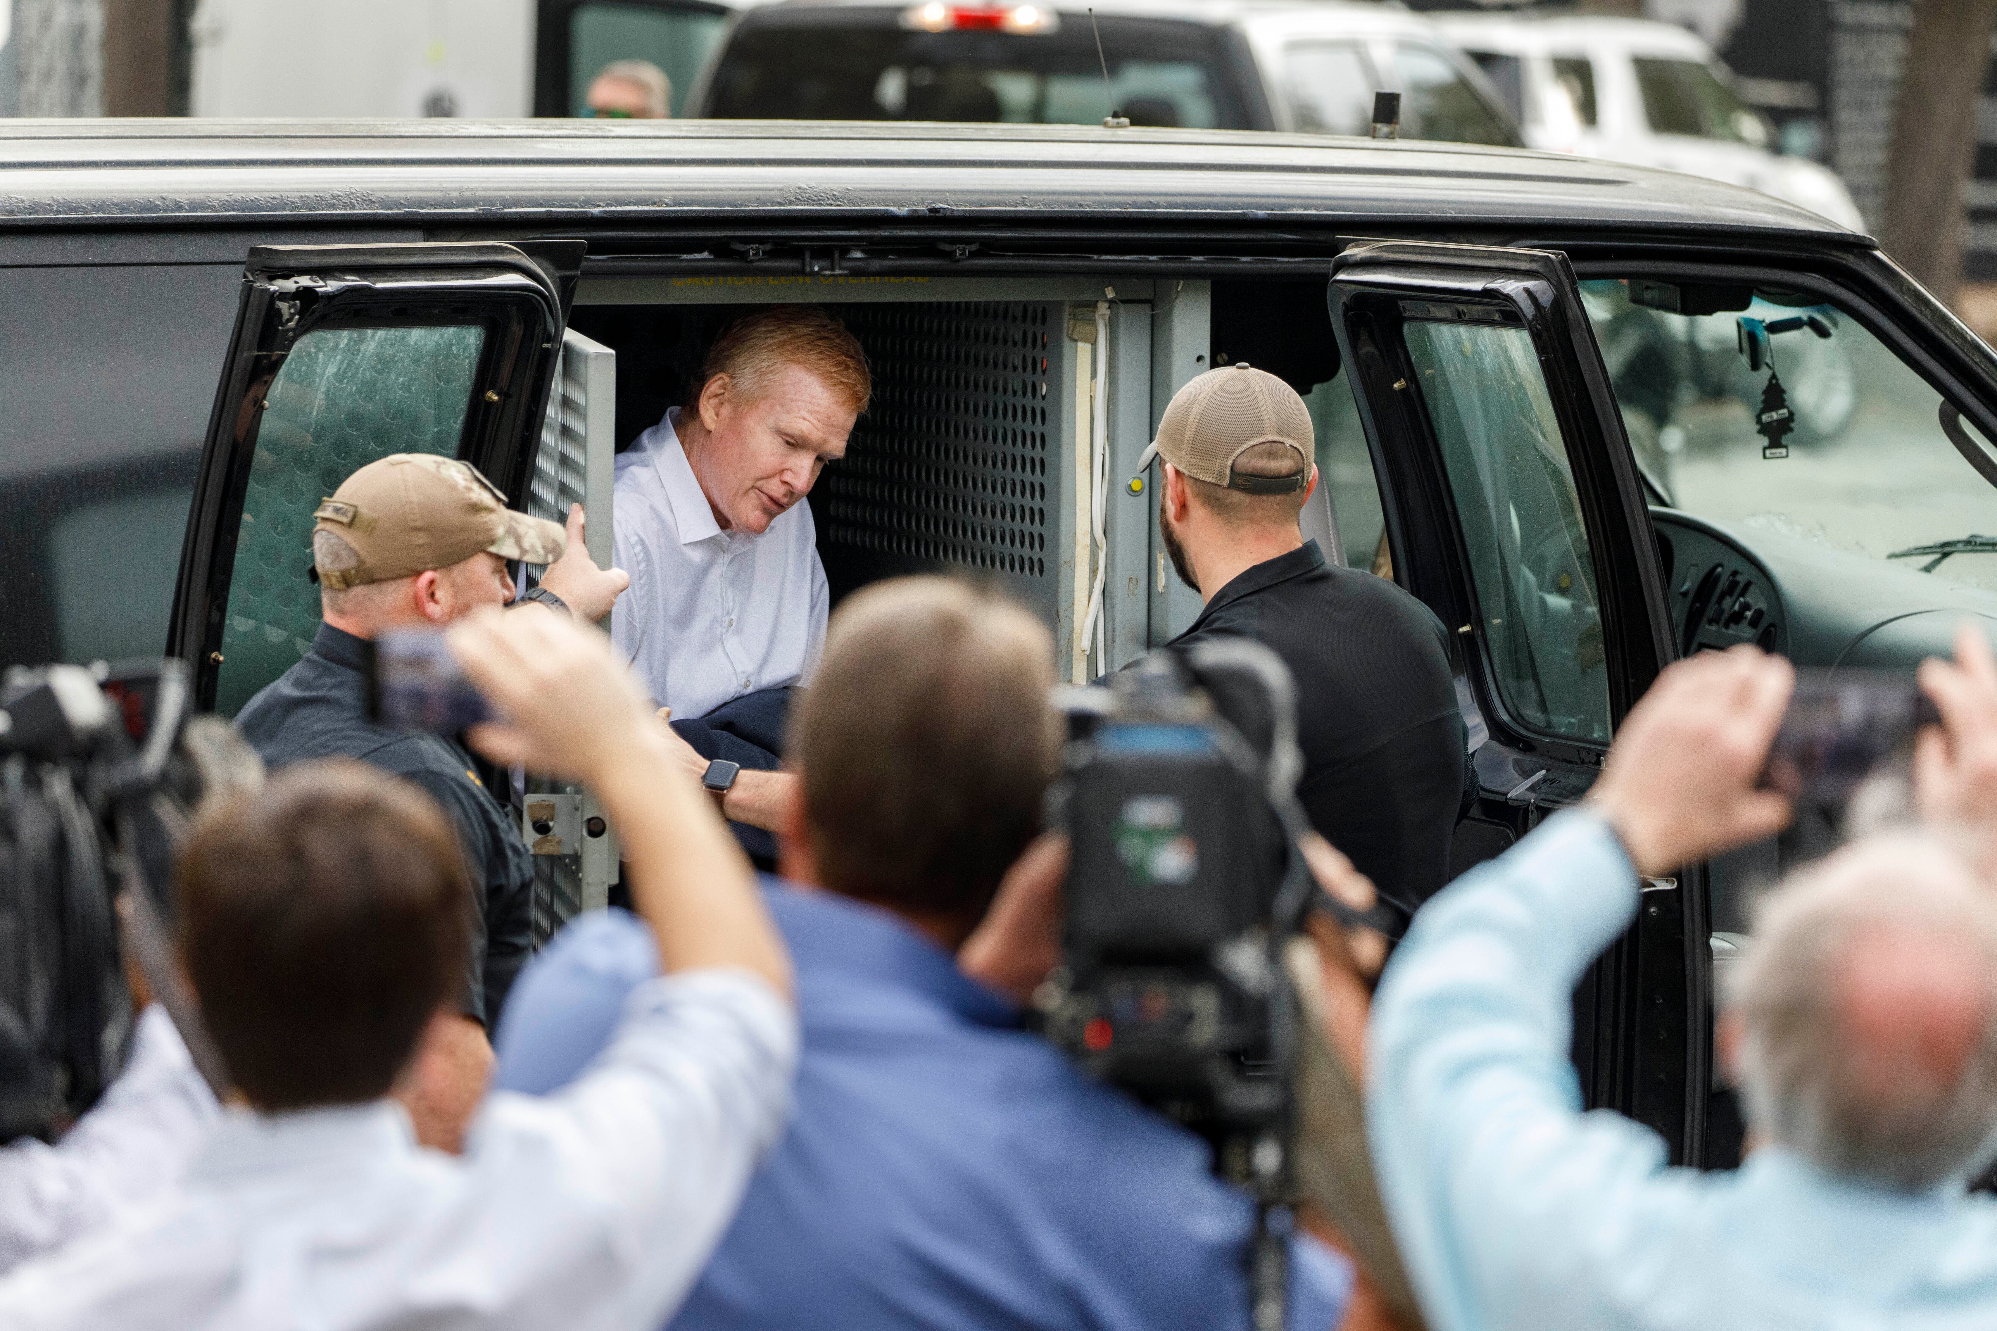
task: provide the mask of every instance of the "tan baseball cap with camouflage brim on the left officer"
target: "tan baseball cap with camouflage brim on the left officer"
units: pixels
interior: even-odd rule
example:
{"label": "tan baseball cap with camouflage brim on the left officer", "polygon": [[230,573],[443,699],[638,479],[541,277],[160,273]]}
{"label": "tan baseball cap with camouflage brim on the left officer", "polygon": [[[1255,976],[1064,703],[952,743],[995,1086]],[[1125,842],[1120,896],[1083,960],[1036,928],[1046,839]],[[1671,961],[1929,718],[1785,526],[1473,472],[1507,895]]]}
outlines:
{"label": "tan baseball cap with camouflage brim on the left officer", "polygon": [[391,453],[367,463],[314,511],[314,531],[332,531],[361,561],[320,569],[333,591],[449,569],[479,551],[545,565],[567,545],[559,525],[505,507],[477,467],[433,453]]}

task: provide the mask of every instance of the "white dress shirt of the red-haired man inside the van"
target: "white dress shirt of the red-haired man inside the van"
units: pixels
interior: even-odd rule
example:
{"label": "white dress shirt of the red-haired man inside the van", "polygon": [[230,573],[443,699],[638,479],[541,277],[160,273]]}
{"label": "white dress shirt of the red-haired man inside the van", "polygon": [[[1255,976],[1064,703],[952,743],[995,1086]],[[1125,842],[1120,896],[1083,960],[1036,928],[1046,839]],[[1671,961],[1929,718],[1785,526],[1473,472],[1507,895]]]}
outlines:
{"label": "white dress shirt of the red-haired man inside the van", "polygon": [[653,704],[693,720],[745,692],[809,682],[831,595],[811,505],[799,499],[759,537],[723,531],[673,433],[677,415],[617,457],[611,549],[631,589],[611,637]]}

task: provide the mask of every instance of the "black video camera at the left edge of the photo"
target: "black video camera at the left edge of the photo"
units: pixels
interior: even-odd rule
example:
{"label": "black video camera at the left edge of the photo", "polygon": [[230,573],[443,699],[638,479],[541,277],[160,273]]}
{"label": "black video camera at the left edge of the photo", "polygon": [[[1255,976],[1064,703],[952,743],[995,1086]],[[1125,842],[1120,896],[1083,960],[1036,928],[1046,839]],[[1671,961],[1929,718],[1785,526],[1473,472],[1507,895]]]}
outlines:
{"label": "black video camera at the left edge of the photo", "polygon": [[[0,1141],[52,1137],[124,1066],[136,960],[188,1028],[166,956],[174,844],[202,794],[186,666],[10,668],[0,682]],[[190,1040],[196,1062],[212,1054]]]}

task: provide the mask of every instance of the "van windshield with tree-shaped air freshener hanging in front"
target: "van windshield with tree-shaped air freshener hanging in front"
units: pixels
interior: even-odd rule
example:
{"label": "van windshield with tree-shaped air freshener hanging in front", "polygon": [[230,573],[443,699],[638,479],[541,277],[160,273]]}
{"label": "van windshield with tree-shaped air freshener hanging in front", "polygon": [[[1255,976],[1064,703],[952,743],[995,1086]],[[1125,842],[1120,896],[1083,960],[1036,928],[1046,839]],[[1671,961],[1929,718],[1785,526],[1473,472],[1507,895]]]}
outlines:
{"label": "van windshield with tree-shaped air freshener hanging in front", "polygon": [[[1997,553],[1925,553],[1997,537],[1997,489],[1949,443],[1941,395],[1833,305],[1737,295],[1725,303],[1745,309],[1679,315],[1632,303],[1624,281],[1582,283],[1652,487],[1695,517],[1997,591]],[[1755,341],[1761,369],[1743,351]],[[1789,433],[1759,421],[1783,407]]]}

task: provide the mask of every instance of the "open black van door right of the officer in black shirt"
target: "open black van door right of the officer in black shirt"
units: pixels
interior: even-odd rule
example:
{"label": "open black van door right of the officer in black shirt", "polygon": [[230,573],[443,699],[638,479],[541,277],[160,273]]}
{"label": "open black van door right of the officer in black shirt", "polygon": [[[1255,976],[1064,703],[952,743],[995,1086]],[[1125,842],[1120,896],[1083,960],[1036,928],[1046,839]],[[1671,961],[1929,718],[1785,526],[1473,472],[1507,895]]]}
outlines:
{"label": "open black van door right of the officer in black shirt", "polygon": [[[1488,736],[1466,868],[1586,794],[1675,657],[1656,537],[1564,253],[1356,243],[1330,307],[1396,575],[1456,631]],[[1703,868],[1646,880],[1638,922],[1576,992],[1588,1104],[1650,1123],[1679,1163],[1703,1137],[1705,934]]]}

